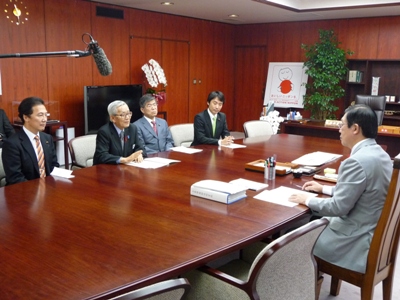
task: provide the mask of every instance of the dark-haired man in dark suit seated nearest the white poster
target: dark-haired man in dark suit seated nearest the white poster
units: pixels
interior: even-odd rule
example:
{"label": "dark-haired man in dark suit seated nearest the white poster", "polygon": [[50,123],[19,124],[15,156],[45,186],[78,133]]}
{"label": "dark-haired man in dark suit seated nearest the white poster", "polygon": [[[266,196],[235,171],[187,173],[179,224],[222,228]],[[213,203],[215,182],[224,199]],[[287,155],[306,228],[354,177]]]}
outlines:
{"label": "dark-haired man in dark suit seated nearest the white poster", "polygon": [[233,137],[230,136],[226,116],[220,112],[225,103],[225,96],[220,91],[213,91],[208,95],[208,109],[194,117],[194,140],[192,146],[230,145]]}

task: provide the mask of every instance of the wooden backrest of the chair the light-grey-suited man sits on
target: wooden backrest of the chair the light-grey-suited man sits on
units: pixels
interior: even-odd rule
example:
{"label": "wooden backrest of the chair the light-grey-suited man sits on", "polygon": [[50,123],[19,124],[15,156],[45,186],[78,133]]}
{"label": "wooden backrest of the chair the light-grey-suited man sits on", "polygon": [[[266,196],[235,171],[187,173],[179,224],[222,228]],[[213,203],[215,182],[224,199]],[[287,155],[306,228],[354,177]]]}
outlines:
{"label": "wooden backrest of the chair the light-grey-suited man sits on", "polygon": [[[385,205],[372,237],[368,252],[366,280],[375,283],[382,280],[379,273],[388,274],[395,267],[400,235],[400,154],[393,162],[393,173],[390,180]],[[392,268],[390,270],[389,268]],[[386,275],[387,276],[387,275]]]}

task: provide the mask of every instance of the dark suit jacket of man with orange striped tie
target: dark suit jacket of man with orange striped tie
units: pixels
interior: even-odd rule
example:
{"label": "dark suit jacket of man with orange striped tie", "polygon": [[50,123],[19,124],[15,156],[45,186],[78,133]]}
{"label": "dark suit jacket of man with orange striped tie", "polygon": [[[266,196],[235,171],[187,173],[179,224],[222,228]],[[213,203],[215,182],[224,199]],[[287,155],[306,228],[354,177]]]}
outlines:
{"label": "dark suit jacket of man with orange striped tie", "polygon": [[[39,132],[42,144],[46,176],[59,167],[51,135]],[[23,129],[17,131],[3,144],[2,159],[7,185],[40,178],[38,160],[32,142]]]}

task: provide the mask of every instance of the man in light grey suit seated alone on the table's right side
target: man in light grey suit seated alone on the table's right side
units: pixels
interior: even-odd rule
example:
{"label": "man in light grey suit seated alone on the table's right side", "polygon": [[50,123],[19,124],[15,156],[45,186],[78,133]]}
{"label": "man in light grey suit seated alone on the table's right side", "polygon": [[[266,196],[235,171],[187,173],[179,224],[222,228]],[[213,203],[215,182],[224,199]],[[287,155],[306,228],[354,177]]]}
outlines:
{"label": "man in light grey suit seated alone on the table's right side", "polygon": [[307,205],[329,219],[318,238],[314,255],[340,267],[365,273],[367,255],[392,174],[389,155],[375,142],[375,112],[355,105],[345,111],[340,125],[342,145],[351,149],[338,171],[336,186],[306,182],[303,190],[331,195],[308,198],[300,194],[290,201]]}

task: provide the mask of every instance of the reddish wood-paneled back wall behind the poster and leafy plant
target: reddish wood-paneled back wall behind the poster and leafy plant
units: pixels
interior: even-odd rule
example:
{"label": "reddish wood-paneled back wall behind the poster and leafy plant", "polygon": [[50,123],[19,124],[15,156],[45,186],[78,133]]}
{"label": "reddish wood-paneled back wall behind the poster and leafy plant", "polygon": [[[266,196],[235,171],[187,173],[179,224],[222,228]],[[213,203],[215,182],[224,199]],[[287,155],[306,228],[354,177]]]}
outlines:
{"label": "reddish wood-paneled back wall behind the poster and leafy plant", "polygon": [[[264,61],[241,64],[235,69],[236,73],[248,74],[248,76],[235,83],[235,91],[237,91],[235,95],[239,95],[240,99],[234,99],[235,110],[238,112],[235,114],[234,129],[239,130],[245,121],[259,117],[262,107],[259,95],[265,88],[268,64],[303,61],[304,53],[301,50],[301,44],[316,42],[319,29],[333,29],[338,34],[341,47],[354,51],[354,55],[349,57],[351,59],[400,59],[399,40],[396,39],[399,25],[400,17],[396,16],[236,26],[235,48],[237,51],[248,49],[247,51],[251,52],[254,50],[250,46],[265,46],[266,55]],[[260,59],[262,59],[261,56]],[[264,78],[260,80],[260,72],[251,72],[251,70],[255,67],[264,68],[263,65],[266,68],[264,72],[261,72]],[[248,96],[253,102],[243,101],[243,94],[246,93],[240,90],[253,91],[254,97]],[[337,100],[336,104],[339,106],[337,112],[337,117],[339,117],[345,109],[343,99]],[[285,110],[281,109],[281,113],[284,112]],[[308,112],[303,112],[303,116],[309,116]]]}

